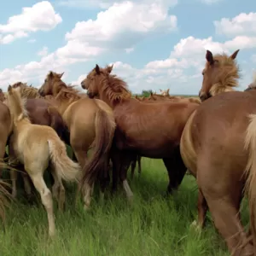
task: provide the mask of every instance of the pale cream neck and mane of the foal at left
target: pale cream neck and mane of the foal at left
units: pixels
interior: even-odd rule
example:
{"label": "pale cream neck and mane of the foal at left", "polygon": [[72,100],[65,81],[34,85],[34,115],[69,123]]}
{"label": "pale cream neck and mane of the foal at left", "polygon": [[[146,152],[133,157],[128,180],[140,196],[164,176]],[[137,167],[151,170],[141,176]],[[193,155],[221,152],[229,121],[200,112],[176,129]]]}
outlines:
{"label": "pale cream neck and mane of the foal at left", "polygon": [[9,85],[8,93],[7,93],[7,105],[9,107],[10,113],[14,120],[14,124],[17,122],[26,119],[27,122],[30,123],[28,119],[28,114],[25,108],[26,98],[21,98],[20,96],[20,87],[12,88]]}

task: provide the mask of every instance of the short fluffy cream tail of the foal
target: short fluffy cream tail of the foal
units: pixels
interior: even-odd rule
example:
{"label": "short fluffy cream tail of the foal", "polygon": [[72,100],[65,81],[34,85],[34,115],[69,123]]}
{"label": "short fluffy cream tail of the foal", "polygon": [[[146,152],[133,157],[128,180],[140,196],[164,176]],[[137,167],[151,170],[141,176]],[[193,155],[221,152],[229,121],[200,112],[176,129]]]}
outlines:
{"label": "short fluffy cream tail of the foal", "polygon": [[65,144],[59,137],[48,140],[49,157],[55,167],[55,171],[66,181],[77,181],[80,175],[80,166],[73,162],[68,155]]}

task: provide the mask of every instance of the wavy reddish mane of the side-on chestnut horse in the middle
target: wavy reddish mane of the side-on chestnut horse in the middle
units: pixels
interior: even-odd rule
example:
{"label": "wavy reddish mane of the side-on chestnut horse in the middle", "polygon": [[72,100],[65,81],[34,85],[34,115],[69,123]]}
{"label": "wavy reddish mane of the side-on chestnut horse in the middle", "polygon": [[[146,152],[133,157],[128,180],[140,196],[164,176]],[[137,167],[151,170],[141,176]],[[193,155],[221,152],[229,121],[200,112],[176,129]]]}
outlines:
{"label": "wavy reddish mane of the side-on chestnut horse in the middle", "polygon": [[105,74],[102,77],[100,84],[102,84],[103,94],[108,97],[108,100],[112,105],[131,99],[131,92],[127,89],[127,84],[116,75]]}

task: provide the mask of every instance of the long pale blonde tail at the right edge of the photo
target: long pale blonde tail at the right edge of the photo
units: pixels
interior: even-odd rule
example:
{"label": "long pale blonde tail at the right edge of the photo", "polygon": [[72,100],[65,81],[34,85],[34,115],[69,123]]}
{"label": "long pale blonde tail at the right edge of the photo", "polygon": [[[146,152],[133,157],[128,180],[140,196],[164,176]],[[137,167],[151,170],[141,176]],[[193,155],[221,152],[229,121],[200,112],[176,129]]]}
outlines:
{"label": "long pale blonde tail at the right edge of the photo", "polygon": [[245,137],[245,149],[248,152],[246,191],[248,194],[250,229],[253,235],[254,253],[256,255],[256,114],[249,115]]}

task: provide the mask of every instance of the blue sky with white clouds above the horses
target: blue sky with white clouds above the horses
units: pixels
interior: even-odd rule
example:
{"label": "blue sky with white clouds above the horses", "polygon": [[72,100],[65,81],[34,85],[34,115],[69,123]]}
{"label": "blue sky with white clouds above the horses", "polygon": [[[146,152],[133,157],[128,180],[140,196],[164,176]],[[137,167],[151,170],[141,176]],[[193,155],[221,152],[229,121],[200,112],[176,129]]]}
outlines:
{"label": "blue sky with white clouds above the horses", "polygon": [[2,3],[0,87],[39,86],[53,70],[79,84],[113,63],[129,88],[198,94],[206,49],[241,49],[243,90],[256,67],[254,0],[55,0]]}

